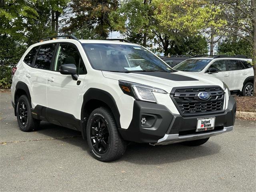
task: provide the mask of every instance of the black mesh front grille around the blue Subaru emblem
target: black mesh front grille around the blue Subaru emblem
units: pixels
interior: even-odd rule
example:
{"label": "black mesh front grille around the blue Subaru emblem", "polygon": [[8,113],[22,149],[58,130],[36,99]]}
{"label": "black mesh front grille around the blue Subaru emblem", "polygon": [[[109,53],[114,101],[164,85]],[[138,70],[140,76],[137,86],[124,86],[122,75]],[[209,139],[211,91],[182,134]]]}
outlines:
{"label": "black mesh front grille around the blue Subaru emblem", "polygon": [[[198,98],[199,92],[208,92],[207,100]],[[183,116],[213,114],[223,111],[224,91],[220,87],[174,88],[170,94]]]}

